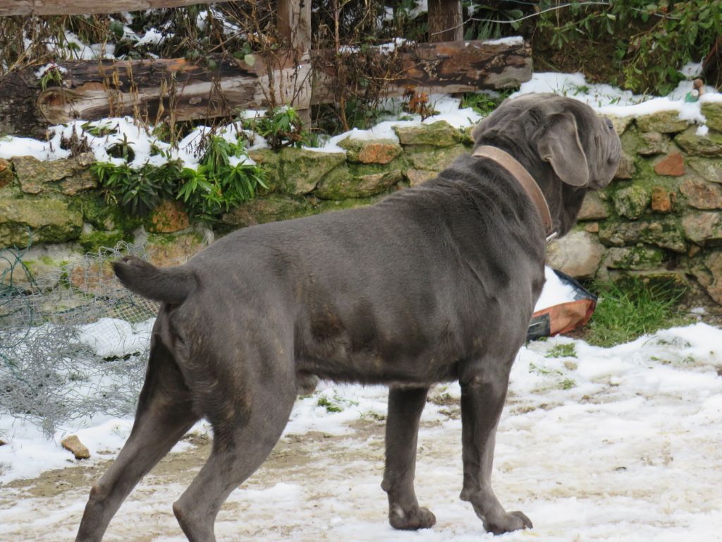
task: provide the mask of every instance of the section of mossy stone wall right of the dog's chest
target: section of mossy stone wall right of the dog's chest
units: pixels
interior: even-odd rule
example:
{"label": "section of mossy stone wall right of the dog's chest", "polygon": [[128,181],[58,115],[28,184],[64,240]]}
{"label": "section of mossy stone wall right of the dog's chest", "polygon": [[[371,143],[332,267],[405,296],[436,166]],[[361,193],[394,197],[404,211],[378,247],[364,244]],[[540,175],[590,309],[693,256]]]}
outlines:
{"label": "section of mossy stone wall right of the dog's chest", "polygon": [[722,304],[722,103],[702,113],[704,135],[677,111],[614,119],[617,176],[588,195],[575,231],[549,246],[549,263],[577,278],[699,285]]}

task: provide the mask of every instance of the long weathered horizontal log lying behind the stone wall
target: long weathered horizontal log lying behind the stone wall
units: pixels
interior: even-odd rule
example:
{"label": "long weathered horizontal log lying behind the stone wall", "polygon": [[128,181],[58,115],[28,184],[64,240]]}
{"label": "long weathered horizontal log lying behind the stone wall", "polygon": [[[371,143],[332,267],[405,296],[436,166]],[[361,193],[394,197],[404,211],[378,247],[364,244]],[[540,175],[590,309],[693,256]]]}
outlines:
{"label": "long weathered horizontal log lying behind the stone wall", "polygon": [[[186,59],[64,62],[62,86],[45,90],[27,68],[0,79],[0,132],[37,135],[48,124],[72,119],[133,115],[151,122],[183,121],[271,103],[303,110],[333,102],[333,63],[344,59],[334,51],[314,51],[295,67],[296,56],[292,50],[273,58],[256,56],[253,65],[217,60],[214,69]],[[383,81],[388,96],[403,95],[408,86],[425,93],[503,89],[531,79],[531,46],[521,38],[424,43],[397,51],[394,64],[398,72]]]}

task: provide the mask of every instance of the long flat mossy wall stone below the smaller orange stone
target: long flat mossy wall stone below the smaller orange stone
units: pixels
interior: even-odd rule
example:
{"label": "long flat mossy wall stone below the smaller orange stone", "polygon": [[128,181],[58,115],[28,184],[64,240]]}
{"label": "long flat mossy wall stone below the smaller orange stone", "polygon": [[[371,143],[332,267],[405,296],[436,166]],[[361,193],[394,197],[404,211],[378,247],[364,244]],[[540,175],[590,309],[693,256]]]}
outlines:
{"label": "long flat mossy wall stone below the smaller orange stone", "polygon": [[638,222],[610,222],[600,225],[599,241],[606,246],[646,243],[683,253],[687,251],[682,231],[673,216]]}

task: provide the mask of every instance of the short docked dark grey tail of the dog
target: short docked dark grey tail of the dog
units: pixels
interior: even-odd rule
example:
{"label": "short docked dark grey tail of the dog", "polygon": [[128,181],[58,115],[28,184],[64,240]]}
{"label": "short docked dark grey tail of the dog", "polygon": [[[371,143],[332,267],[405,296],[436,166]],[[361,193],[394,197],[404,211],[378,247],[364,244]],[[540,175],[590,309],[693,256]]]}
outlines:
{"label": "short docked dark grey tail of the dog", "polygon": [[198,285],[196,274],[187,266],[160,269],[134,256],[113,262],[113,271],[131,292],[173,305],[183,303]]}

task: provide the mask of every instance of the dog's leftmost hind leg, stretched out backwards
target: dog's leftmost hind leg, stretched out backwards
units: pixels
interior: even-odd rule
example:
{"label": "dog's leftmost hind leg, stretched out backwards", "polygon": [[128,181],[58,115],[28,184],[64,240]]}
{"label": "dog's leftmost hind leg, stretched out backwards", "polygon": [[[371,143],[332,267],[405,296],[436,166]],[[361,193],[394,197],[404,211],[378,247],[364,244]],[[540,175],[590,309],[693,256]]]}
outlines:
{"label": "dog's leftmost hind leg, stretched out backwards", "polygon": [[133,429],[113,465],[90,490],[77,542],[102,540],[136,483],[198,419],[173,355],[154,337]]}

